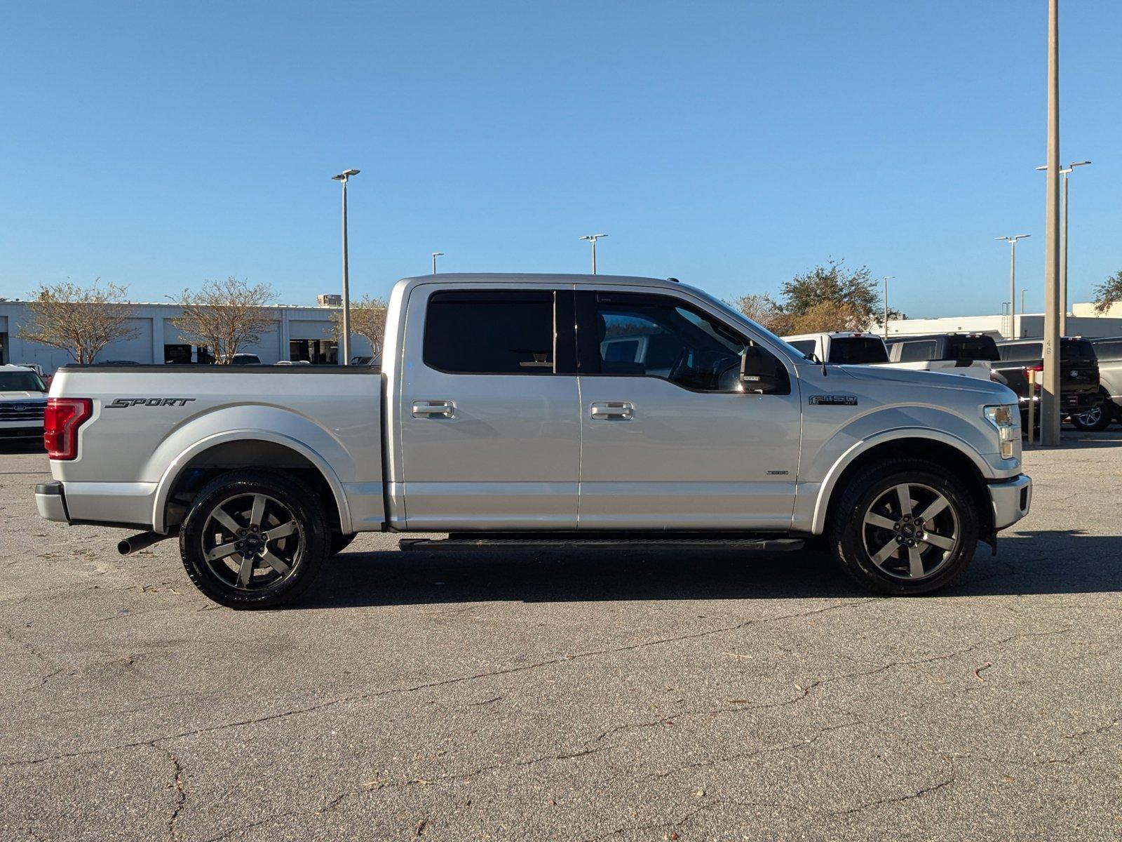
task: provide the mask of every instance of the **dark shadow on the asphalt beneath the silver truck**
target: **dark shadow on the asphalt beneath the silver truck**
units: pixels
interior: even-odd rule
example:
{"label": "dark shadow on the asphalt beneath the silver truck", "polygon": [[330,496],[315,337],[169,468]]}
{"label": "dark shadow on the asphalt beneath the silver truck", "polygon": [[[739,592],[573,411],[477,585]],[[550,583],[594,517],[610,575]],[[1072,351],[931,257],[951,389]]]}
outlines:
{"label": "dark shadow on the asphalt beneath the silver truck", "polygon": [[[963,584],[938,597],[1122,592],[1122,539],[1077,531],[981,544]],[[867,596],[822,552],[379,551],[332,559],[296,607],[459,602],[770,600]]]}

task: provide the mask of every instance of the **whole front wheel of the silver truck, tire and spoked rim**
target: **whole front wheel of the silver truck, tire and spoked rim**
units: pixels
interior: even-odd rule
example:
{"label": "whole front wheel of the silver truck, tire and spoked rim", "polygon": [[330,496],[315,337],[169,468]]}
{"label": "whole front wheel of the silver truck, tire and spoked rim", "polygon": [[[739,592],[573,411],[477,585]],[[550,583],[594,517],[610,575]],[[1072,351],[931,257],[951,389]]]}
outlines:
{"label": "whole front wheel of the silver truck, tire and spoked rim", "polygon": [[[910,513],[899,487],[908,488]],[[978,540],[976,509],[950,472],[922,459],[891,459],[849,481],[830,519],[830,548],[842,569],[870,591],[930,594],[966,571]]]}

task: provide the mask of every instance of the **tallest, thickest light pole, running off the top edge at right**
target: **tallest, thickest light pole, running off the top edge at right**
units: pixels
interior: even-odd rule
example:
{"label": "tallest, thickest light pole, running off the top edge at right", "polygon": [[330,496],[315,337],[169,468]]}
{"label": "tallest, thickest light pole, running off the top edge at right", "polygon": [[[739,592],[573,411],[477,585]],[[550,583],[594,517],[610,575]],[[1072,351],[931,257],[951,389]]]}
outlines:
{"label": "tallest, thickest light pole, running off the top edge at right", "polygon": [[[1040,443],[1059,445],[1059,0],[1048,0],[1048,180],[1045,200],[1045,377]],[[1031,396],[1031,395],[1030,395]]]}

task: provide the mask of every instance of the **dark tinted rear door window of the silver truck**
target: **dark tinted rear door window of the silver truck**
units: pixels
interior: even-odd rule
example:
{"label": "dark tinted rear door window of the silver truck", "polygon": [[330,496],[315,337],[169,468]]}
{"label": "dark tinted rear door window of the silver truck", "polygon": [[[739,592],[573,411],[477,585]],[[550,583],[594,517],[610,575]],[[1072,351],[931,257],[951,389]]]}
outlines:
{"label": "dark tinted rear door window of the silver truck", "polygon": [[439,292],[424,364],[452,374],[552,374],[552,292]]}

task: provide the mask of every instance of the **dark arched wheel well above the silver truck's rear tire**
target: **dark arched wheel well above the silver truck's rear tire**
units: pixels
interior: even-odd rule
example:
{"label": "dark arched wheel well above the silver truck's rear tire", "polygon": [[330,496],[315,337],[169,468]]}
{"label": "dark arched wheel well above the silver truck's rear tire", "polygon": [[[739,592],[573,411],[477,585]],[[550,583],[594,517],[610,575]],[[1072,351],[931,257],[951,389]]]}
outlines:
{"label": "dark arched wheel well above the silver truck's rear tire", "polygon": [[167,495],[164,523],[168,528],[180,525],[199,491],[219,474],[236,468],[270,468],[298,477],[320,496],[332,529],[339,530],[339,506],[323,472],[291,447],[257,439],[226,441],[193,456]]}

